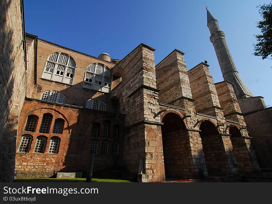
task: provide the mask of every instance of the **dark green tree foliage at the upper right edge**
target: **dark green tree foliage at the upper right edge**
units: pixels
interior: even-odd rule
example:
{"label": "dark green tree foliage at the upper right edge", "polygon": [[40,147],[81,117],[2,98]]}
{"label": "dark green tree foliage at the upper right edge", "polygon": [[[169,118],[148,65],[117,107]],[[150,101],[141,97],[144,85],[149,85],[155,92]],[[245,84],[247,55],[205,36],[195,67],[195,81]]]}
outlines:
{"label": "dark green tree foliage at the upper right edge", "polygon": [[257,23],[261,29],[260,35],[255,35],[257,44],[254,45],[254,55],[262,59],[272,59],[272,1],[269,4],[257,6],[263,20]]}

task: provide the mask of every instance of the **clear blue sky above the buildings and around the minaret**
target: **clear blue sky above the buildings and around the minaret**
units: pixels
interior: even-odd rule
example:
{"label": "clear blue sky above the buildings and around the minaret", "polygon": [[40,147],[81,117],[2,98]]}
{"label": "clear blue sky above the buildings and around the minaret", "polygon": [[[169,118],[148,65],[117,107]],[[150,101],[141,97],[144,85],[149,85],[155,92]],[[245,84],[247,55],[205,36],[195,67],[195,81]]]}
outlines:
{"label": "clear blue sky above the buildings and around the minaret", "polygon": [[272,106],[272,61],[252,53],[261,20],[256,6],[269,0],[83,1],[24,0],[25,28],[39,38],[98,57],[123,59],[140,43],[156,49],[155,65],[172,50],[185,52],[187,69],[208,61],[223,81],[210,42],[206,9],[218,20],[236,68],[254,96]]}

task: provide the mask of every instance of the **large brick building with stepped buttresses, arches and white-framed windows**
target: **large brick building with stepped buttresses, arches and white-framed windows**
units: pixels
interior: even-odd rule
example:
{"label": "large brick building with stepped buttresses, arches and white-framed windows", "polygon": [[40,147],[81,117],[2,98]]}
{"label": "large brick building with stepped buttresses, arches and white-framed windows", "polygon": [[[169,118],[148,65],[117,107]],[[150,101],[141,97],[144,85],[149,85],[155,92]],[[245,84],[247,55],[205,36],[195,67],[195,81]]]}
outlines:
{"label": "large brick building with stepped buttresses, arches and white-framed windows", "polygon": [[28,33],[24,41],[28,78],[24,92],[14,88],[25,98],[11,144],[17,178],[86,173],[90,151],[95,173],[147,181],[260,172],[233,83],[214,84],[208,64],[187,71],[175,49],[155,66],[145,44],[118,60]]}

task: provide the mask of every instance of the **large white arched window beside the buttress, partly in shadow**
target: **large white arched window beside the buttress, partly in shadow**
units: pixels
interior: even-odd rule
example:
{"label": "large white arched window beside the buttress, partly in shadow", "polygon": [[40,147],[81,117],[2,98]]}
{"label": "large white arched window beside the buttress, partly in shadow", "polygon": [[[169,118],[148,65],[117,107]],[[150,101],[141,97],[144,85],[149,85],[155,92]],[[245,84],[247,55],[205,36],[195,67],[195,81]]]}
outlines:
{"label": "large white arched window beside the buttress, partly in shadow", "polygon": [[103,64],[90,64],[85,72],[83,88],[109,92],[111,89],[112,74]]}

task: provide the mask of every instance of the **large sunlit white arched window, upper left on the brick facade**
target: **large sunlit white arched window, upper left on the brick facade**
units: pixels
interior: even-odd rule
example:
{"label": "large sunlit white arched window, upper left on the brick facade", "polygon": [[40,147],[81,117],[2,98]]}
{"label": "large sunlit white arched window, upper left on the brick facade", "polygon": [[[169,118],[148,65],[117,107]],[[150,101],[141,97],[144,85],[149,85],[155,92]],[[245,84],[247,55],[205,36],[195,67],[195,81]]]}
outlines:
{"label": "large sunlit white arched window, upper left on the brick facade", "polygon": [[56,52],[49,56],[41,78],[73,84],[75,68],[75,61],[70,55]]}

